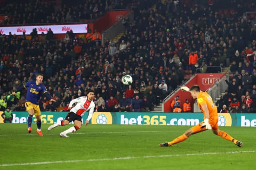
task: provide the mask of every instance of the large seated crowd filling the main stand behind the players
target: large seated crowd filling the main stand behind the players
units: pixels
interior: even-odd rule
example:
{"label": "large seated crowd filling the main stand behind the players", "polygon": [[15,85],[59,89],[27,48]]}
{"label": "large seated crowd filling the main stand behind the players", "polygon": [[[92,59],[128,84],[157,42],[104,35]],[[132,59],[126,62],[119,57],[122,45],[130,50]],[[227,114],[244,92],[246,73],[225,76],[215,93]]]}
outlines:
{"label": "large seated crowd filling the main stand behind the players", "polygon": [[[158,0],[156,10],[145,10],[143,5],[137,3],[134,22],[124,25],[118,42],[106,40],[100,45],[79,39],[72,31],[58,41],[52,41],[54,33],[39,37],[36,30],[29,41],[26,35],[0,35],[2,100],[7,106],[19,102],[15,110],[24,110],[25,92],[12,96],[12,91],[43,73],[44,84],[57,102],[42,98],[42,111],[66,111],[70,100],[84,96],[87,89],[95,90],[98,111],[149,111],[184,82],[186,70],[220,72],[232,63],[228,102],[244,96],[235,108],[254,110],[256,30],[245,11],[255,10],[255,4],[232,4],[226,14],[214,4],[188,7],[182,1]],[[33,23],[26,18],[25,23],[29,22]],[[132,75],[131,86],[122,84],[125,74]],[[227,108],[234,107],[228,102]],[[219,110],[224,103],[220,106]]]}

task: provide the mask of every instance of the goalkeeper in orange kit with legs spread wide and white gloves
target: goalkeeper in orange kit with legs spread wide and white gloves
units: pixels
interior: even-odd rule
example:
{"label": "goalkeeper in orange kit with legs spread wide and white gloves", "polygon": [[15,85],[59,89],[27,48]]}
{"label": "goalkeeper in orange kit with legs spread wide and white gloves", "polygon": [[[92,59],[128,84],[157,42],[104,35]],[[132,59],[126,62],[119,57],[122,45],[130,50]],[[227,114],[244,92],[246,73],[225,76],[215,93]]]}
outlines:
{"label": "goalkeeper in orange kit with legs spread wide and white gloves", "polygon": [[228,135],[226,132],[219,130],[217,107],[214,105],[212,98],[208,93],[202,92],[198,85],[193,85],[190,89],[188,89],[187,87],[182,87],[181,90],[190,92],[191,96],[194,99],[197,99],[198,106],[204,114],[204,121],[188,129],[183,135],[181,135],[180,137],[177,137],[173,141],[167,142],[167,143],[161,143],[160,144],[161,147],[169,147],[176,143],[180,143],[182,141],[185,141],[191,135],[202,132],[202,131],[206,131],[208,129],[209,130],[212,129],[212,132],[215,135],[218,135],[228,141],[232,141],[238,147],[243,146],[242,142],[237,141],[236,139]]}

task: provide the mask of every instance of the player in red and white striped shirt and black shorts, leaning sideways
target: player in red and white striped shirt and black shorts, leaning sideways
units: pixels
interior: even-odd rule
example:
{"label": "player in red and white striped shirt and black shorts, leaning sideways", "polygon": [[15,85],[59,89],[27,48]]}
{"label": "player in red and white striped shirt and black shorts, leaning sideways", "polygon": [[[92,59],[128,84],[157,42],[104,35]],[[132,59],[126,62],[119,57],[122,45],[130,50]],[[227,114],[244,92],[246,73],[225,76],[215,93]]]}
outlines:
{"label": "player in red and white striped shirt and black shorts, leaning sideways", "polygon": [[68,137],[67,136],[68,133],[73,133],[74,131],[77,131],[78,129],[80,129],[82,127],[82,115],[84,115],[84,113],[86,111],[89,111],[89,115],[85,121],[85,126],[87,126],[90,119],[92,118],[92,114],[94,112],[95,104],[92,101],[93,98],[94,98],[94,90],[88,90],[86,97],[81,96],[79,98],[71,100],[71,102],[68,106],[68,110],[70,110],[72,108],[72,105],[74,103],[77,103],[76,106],[74,106],[70,110],[70,112],[67,114],[64,121],[50,125],[50,127],[48,127],[48,130],[50,131],[51,129],[53,129],[57,126],[68,125],[70,122],[74,121],[75,126],[72,126],[69,129],[67,129],[66,131],[63,131],[62,133],[60,133],[61,137]]}

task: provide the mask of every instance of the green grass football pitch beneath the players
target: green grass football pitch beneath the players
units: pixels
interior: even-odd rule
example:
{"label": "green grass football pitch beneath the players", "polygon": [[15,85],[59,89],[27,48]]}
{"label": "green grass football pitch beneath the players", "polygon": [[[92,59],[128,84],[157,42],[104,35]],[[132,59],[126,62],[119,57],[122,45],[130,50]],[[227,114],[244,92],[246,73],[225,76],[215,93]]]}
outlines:
{"label": "green grass football pitch beneath the players", "polygon": [[48,131],[27,133],[26,124],[0,124],[0,170],[255,170],[256,128],[220,127],[243,142],[242,148],[205,131],[171,147],[159,147],[182,135],[188,126],[88,125],[70,138]]}

